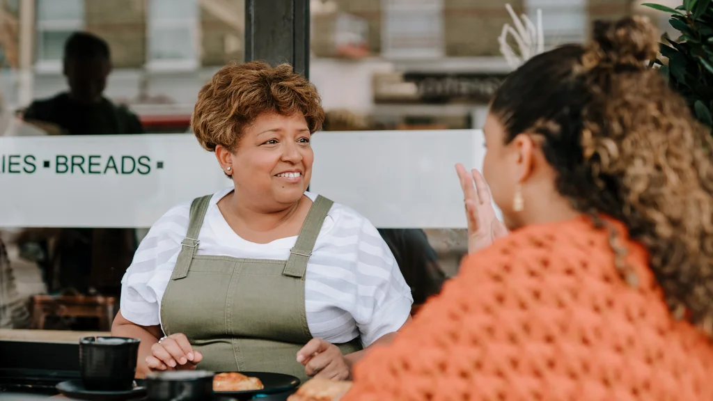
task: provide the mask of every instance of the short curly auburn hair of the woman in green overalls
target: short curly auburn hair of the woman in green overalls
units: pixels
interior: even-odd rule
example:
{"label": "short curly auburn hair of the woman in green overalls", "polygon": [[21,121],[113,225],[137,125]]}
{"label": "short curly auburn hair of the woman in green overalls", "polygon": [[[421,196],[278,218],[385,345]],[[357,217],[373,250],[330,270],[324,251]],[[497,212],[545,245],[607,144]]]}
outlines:
{"label": "short curly auburn hair of the woman in green overalls", "polygon": [[220,145],[234,151],[245,127],[263,113],[302,113],[311,133],[324,122],[322,99],[307,78],[289,64],[250,61],[228,64],[213,75],[198,92],[190,125],[205,150]]}

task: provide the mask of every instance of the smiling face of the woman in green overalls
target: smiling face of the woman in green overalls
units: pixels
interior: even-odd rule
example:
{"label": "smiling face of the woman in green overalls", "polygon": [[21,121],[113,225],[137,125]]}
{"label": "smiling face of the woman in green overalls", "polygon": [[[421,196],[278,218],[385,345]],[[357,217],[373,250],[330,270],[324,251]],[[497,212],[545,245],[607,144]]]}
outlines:
{"label": "smiling face of the woman in green overalls", "polygon": [[236,193],[267,208],[296,203],[312,178],[310,137],[301,113],[258,116],[230,154]]}

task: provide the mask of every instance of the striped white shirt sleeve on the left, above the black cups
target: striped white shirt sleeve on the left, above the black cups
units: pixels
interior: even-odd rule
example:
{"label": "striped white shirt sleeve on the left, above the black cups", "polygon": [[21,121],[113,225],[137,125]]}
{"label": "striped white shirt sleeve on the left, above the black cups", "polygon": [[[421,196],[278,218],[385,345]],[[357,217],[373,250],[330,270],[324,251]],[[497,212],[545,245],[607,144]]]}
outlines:
{"label": "striped white shirt sleeve on the left, above the black cups", "polygon": [[121,280],[120,309],[137,325],[159,325],[159,304],[188,231],[190,204],[159,218],[143,238]]}

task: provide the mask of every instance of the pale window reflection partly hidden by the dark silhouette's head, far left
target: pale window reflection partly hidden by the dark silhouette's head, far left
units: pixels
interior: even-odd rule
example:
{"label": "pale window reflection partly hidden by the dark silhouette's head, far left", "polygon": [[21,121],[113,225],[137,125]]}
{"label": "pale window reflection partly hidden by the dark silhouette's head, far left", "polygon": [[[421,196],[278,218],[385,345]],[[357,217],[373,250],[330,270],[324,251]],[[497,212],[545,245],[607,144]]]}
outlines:
{"label": "pale window reflection partly hidden by the dark silhouette's head, far left", "polygon": [[85,26],[84,0],[37,0],[36,68],[61,69],[64,42]]}

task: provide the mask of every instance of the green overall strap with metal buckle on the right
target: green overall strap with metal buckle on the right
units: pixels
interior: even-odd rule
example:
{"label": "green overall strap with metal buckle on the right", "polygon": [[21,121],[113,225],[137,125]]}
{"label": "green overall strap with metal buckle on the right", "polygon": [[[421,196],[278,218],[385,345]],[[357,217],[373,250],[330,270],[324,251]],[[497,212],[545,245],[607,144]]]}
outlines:
{"label": "green overall strap with metal buckle on the right", "polygon": [[307,218],[302,223],[302,229],[299,230],[297,241],[294,243],[294,248],[289,250],[289,259],[284,265],[282,274],[290,277],[302,278],[304,272],[307,271],[307,261],[312,256],[314,243],[317,242],[319,231],[322,230],[322,223],[327,217],[329,209],[332,208],[334,202],[323,196],[317,196],[317,200],[312,203],[312,208],[309,208]]}

